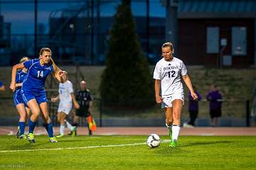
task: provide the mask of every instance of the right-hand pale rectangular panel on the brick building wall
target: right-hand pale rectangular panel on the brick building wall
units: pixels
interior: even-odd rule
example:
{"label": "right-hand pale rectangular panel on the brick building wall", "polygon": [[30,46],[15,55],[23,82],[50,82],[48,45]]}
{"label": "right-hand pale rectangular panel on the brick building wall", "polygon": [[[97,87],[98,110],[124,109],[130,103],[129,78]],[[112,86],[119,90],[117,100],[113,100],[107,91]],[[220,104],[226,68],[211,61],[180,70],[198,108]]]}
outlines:
{"label": "right-hand pale rectangular panel on the brick building wall", "polygon": [[246,35],[245,27],[232,28],[232,55],[247,55]]}

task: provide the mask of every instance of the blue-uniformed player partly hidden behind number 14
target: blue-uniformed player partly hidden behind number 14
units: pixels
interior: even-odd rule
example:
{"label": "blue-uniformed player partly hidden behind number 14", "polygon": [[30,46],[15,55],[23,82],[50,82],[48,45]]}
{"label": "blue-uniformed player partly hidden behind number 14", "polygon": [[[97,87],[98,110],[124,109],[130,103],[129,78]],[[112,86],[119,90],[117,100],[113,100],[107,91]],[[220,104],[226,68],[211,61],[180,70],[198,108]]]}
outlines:
{"label": "blue-uniformed player partly hidden behind number 14", "polygon": [[[22,57],[20,63],[27,62],[28,57]],[[28,114],[30,109],[28,106],[25,105],[25,102],[21,96],[21,86],[23,80],[26,78],[27,69],[24,67],[23,69],[19,69],[16,73],[16,80],[15,80],[15,91],[14,91],[14,105],[20,115],[18,120],[18,132],[16,133],[17,138],[24,139],[26,136],[24,135],[25,127],[26,127],[26,120],[28,118]]]}

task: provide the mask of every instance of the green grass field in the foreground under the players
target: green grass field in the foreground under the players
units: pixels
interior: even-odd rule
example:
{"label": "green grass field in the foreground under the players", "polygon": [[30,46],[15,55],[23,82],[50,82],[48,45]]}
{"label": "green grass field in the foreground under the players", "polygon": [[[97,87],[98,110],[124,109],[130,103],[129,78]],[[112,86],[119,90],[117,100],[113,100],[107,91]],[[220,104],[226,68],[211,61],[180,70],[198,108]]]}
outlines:
{"label": "green grass field in the foreground under the players", "polygon": [[29,144],[3,135],[0,169],[256,169],[255,136],[182,136],[176,148],[163,142],[154,149],[143,144],[145,140],[146,136],[80,136],[53,144],[46,136],[36,136],[36,143]]}

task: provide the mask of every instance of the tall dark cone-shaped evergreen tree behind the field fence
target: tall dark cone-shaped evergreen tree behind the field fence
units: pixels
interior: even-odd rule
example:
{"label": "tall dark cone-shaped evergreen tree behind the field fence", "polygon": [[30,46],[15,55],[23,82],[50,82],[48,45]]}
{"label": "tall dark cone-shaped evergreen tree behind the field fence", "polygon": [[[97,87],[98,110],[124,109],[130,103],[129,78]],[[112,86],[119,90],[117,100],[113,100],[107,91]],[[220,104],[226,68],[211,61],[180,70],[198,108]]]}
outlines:
{"label": "tall dark cone-shaped evergreen tree behind the field fence", "polygon": [[101,96],[109,106],[147,106],[154,100],[153,81],[139,45],[130,1],[122,1],[114,20],[100,84]]}

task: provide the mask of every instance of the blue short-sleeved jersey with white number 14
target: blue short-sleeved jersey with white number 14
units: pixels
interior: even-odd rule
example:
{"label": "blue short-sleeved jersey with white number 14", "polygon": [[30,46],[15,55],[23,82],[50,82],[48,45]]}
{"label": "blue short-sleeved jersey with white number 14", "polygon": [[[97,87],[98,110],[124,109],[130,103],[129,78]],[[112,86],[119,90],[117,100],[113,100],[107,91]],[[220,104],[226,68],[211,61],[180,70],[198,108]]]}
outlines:
{"label": "blue short-sleeved jersey with white number 14", "polygon": [[23,81],[22,90],[32,94],[46,93],[44,86],[48,74],[53,73],[51,64],[40,64],[39,59],[23,62],[24,67],[28,69],[28,75]]}

